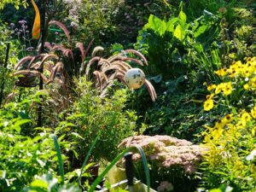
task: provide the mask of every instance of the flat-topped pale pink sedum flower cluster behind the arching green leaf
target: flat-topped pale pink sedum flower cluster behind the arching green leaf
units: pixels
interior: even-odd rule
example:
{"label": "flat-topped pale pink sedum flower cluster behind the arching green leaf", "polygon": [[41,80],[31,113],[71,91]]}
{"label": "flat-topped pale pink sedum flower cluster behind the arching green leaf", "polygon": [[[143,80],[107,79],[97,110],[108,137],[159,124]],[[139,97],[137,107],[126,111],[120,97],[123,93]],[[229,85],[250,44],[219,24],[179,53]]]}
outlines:
{"label": "flat-topped pale pink sedum flower cluster behind the arching green leaf", "polygon": [[[140,145],[148,160],[154,162],[158,167],[169,169],[178,166],[188,174],[195,173],[205,150],[187,140],[159,135],[128,137],[119,144],[119,148],[128,148],[134,145]],[[140,160],[140,155],[134,154],[133,160]]]}

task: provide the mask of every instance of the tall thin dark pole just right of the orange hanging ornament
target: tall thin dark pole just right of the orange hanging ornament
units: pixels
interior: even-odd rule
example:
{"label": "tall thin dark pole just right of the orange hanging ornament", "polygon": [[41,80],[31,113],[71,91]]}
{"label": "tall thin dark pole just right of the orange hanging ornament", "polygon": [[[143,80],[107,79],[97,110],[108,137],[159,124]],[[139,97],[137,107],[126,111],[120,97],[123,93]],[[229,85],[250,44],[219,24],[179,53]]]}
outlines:
{"label": "tall thin dark pole just right of the orange hanging ornament", "polygon": [[[46,31],[45,31],[45,12],[46,12],[46,0],[42,0],[42,11],[41,11],[41,32],[42,32],[42,40],[41,40],[41,47],[39,50],[39,54],[43,54],[44,53],[44,43],[45,43],[45,35],[46,35]],[[39,72],[40,73],[44,73],[44,65],[42,65],[41,68],[39,68]],[[44,89],[44,81],[42,79],[42,77],[40,76],[40,82],[39,82],[39,90],[43,90]],[[43,96],[40,96],[40,100],[42,102],[43,100]],[[43,113],[43,105],[42,103],[39,103],[39,107],[38,107],[38,126],[42,126],[42,113]]]}

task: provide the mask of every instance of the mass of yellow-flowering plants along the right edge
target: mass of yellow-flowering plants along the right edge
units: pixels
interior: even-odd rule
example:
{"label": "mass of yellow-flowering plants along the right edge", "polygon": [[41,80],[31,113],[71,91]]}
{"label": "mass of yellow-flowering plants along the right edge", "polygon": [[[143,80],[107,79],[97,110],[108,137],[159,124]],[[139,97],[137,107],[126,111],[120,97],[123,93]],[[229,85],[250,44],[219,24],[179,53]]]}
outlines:
{"label": "mass of yellow-flowering plants along the right edge", "polygon": [[208,151],[202,163],[202,185],[217,188],[226,183],[234,191],[254,191],[255,175],[255,67],[256,57],[233,62],[216,73],[220,84],[209,84],[206,111],[225,106],[226,114],[214,126],[206,126],[204,145]]}

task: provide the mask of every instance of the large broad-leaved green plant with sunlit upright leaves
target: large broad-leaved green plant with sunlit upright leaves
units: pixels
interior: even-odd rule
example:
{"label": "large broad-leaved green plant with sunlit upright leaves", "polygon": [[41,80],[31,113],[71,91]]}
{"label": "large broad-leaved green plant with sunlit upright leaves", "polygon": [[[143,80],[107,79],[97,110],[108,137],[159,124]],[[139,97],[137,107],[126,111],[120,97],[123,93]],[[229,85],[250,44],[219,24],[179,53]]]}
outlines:
{"label": "large broad-leaved green plant with sunlit upright leaves", "polygon": [[160,20],[150,15],[139,32],[136,49],[148,55],[149,71],[164,79],[175,79],[193,69],[189,56],[212,44],[218,33],[218,17],[205,12],[193,22],[181,10],[178,17]]}

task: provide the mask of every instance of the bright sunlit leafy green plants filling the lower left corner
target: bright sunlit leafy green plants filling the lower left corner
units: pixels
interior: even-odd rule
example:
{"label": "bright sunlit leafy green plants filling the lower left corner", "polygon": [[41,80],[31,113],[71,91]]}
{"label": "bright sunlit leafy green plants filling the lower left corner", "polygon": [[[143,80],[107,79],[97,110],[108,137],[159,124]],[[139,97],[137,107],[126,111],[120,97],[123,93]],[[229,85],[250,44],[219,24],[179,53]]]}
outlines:
{"label": "bright sunlit leafy green plants filling the lower left corner", "polygon": [[[31,119],[21,116],[21,103],[9,103],[0,110],[0,189],[17,191],[32,181],[34,175],[52,171],[55,167],[55,149],[49,130],[38,130],[32,137]],[[23,129],[29,127],[31,135]]]}

